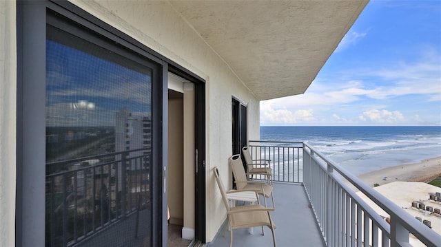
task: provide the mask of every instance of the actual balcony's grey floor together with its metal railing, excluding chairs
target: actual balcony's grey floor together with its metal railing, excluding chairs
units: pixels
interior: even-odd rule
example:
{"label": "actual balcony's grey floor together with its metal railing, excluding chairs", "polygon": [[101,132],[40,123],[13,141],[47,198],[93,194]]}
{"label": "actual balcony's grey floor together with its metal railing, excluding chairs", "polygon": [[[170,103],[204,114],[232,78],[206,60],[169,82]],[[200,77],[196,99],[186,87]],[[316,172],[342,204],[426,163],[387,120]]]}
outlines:
{"label": "actual balcony's grey floor together with its metal railing, excluding chairs", "polygon": [[[278,246],[439,246],[435,233],[320,151],[302,142],[250,141],[254,159],[271,160]],[[355,189],[353,189],[355,188]],[[390,215],[384,219],[361,191]],[[439,215],[441,216],[441,215]],[[207,246],[228,246],[223,230]],[[272,246],[271,233],[235,230],[235,246]]]}

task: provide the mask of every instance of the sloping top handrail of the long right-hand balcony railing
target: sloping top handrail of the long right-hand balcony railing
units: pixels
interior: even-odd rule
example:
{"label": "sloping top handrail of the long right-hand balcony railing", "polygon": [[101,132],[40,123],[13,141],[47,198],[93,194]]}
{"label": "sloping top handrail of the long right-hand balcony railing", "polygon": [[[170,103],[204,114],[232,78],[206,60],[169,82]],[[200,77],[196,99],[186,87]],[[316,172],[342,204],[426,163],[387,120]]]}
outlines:
{"label": "sloping top handrail of the long right-hand balcony railing", "polygon": [[418,239],[424,240],[425,242],[429,241],[431,243],[441,243],[441,235],[435,233],[435,231],[433,230],[427,230],[427,226],[424,226],[424,224],[420,224],[421,222],[419,222],[418,219],[416,219],[406,211],[403,211],[402,208],[400,208],[397,204],[391,202],[389,199],[387,199],[387,197],[384,197],[384,195],[372,189],[370,186],[365,184],[365,182],[362,182],[355,175],[349,173],[349,171],[347,171],[345,168],[340,167],[340,165],[337,164],[336,162],[326,158],[325,155],[323,155],[320,151],[318,151],[314,147],[311,147],[307,143],[303,143],[303,144],[304,147],[307,147],[311,151],[314,151],[314,153],[318,157],[320,157],[323,161],[327,162],[327,164],[331,166],[332,169],[338,171],[338,173],[340,173],[340,175],[342,175],[343,178],[351,182],[353,186],[356,186],[357,189],[359,189],[362,193],[367,195],[367,197],[369,197],[373,202],[378,204],[378,206],[380,206],[384,211],[389,213],[391,217],[395,216],[395,220],[398,220],[400,224],[404,226],[404,228],[407,228]]}

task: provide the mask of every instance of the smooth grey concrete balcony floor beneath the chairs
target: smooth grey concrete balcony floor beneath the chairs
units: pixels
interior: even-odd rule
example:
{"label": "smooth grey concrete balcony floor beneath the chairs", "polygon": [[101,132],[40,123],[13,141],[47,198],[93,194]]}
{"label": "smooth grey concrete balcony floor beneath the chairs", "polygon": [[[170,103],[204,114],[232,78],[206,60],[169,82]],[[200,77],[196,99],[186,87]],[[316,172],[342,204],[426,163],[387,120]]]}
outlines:
{"label": "smooth grey concrete balcony floor beneath the chairs", "polygon": [[[277,246],[325,246],[302,185],[274,182],[274,200],[276,209],[271,217],[276,224]],[[267,202],[271,204],[271,199]],[[229,246],[229,232],[225,237],[223,233],[221,228],[214,241],[205,246]],[[260,227],[254,227],[253,235],[248,228],[234,230],[233,246],[273,246],[271,230],[265,227],[265,235]]]}

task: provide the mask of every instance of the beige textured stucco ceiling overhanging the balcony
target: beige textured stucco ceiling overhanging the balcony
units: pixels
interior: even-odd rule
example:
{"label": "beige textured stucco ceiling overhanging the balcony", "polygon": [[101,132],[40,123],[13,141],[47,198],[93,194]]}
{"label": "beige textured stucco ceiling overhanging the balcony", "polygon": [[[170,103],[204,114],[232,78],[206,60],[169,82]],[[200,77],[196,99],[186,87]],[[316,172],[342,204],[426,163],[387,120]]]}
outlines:
{"label": "beige textured stucco ceiling overhanging the balcony", "polygon": [[368,1],[170,1],[259,100],[302,94]]}

